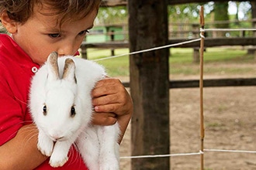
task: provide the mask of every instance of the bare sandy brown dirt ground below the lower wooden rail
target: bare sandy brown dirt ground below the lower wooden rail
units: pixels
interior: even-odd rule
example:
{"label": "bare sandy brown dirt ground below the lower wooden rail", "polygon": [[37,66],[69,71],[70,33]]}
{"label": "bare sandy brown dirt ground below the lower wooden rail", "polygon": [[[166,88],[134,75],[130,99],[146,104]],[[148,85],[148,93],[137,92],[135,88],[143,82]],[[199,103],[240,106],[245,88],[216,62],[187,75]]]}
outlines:
{"label": "bare sandy brown dirt ground below the lower wooden rail", "polygon": [[[230,76],[222,76],[230,78]],[[217,77],[219,76],[214,76]],[[234,77],[241,78],[244,75],[234,75]],[[256,87],[205,88],[204,118],[206,134],[204,148],[256,151]],[[199,89],[170,90],[171,154],[199,152],[199,128]],[[130,129],[129,126],[120,145],[121,157],[131,155]],[[130,159],[121,159],[120,165],[121,169],[130,170]],[[206,170],[256,169],[256,153],[205,151],[204,168]],[[179,169],[199,170],[200,156],[171,157],[171,170]]]}

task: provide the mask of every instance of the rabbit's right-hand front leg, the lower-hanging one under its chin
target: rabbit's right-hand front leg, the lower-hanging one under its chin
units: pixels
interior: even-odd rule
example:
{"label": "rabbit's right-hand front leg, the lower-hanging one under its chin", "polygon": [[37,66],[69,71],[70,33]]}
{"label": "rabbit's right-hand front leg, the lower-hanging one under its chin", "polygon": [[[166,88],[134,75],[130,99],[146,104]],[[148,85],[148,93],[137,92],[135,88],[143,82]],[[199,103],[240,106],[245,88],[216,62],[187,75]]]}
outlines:
{"label": "rabbit's right-hand front leg, the lower-hanging one under its chin", "polygon": [[56,168],[63,166],[67,160],[67,154],[71,148],[72,143],[70,141],[56,141],[54,145],[54,151],[50,156],[50,166]]}

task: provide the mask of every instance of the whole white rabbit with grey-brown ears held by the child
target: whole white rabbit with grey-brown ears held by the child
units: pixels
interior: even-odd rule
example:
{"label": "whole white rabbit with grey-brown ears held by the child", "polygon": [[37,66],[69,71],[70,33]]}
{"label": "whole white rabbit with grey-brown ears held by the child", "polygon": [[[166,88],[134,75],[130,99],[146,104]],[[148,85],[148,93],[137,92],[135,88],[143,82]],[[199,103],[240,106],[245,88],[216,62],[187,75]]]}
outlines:
{"label": "whole white rabbit with grey-brown ears held by the child", "polygon": [[91,91],[105,76],[97,63],[57,53],[33,76],[29,109],[39,130],[37,148],[50,156],[51,166],[64,165],[76,142],[90,170],[119,169],[119,125],[90,124]]}

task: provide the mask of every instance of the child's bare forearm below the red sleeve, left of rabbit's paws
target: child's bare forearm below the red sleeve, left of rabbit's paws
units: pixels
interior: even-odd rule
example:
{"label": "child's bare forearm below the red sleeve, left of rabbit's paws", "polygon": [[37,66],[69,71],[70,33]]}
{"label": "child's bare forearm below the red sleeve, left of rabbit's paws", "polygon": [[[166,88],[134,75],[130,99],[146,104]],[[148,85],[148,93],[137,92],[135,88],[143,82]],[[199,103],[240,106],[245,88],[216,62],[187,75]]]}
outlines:
{"label": "child's bare forearm below the red sleeve, left of rabbit's paws", "polygon": [[16,137],[0,147],[1,169],[33,169],[47,157],[36,148],[37,129],[34,124],[19,129]]}

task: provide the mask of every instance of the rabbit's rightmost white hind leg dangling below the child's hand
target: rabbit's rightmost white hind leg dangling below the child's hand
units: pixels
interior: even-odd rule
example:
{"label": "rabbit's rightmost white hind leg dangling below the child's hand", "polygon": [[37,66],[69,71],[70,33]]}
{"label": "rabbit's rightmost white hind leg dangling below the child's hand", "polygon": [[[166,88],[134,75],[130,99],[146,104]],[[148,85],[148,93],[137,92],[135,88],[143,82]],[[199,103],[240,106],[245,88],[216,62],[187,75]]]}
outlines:
{"label": "rabbit's rightmost white hind leg dangling below the child's hand", "polygon": [[100,127],[99,137],[99,169],[119,170],[119,125]]}

